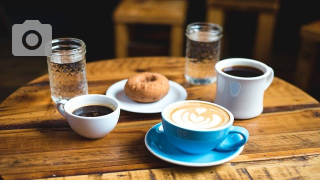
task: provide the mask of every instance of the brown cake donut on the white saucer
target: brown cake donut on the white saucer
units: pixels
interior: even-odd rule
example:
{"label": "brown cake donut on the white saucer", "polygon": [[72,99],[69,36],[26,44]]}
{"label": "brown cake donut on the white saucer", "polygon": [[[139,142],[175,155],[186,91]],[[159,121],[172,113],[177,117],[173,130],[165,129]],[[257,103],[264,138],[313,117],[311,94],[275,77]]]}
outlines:
{"label": "brown cake donut on the white saucer", "polygon": [[159,73],[142,72],[128,78],[125,94],[136,102],[156,102],[169,92],[169,80]]}

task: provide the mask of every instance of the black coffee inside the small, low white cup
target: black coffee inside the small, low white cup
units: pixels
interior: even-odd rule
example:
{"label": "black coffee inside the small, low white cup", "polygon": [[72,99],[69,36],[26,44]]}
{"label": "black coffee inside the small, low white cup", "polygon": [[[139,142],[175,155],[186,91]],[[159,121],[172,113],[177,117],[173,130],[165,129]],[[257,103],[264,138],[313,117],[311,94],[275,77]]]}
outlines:
{"label": "black coffee inside the small, low white cup", "polygon": [[72,112],[72,114],[84,117],[96,117],[103,116],[112,113],[113,110],[110,107],[102,105],[89,105],[80,107]]}

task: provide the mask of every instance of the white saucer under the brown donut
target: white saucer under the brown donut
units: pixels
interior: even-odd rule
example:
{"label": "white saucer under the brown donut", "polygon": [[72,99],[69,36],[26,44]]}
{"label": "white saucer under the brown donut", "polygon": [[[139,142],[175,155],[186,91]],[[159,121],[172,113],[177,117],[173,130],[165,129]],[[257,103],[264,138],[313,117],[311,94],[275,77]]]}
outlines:
{"label": "white saucer under the brown donut", "polygon": [[162,109],[168,104],[176,101],[186,100],[187,98],[187,91],[180,84],[174,81],[169,81],[170,90],[164,98],[153,103],[138,103],[131,100],[124,93],[123,88],[126,82],[127,79],[116,82],[106,91],[106,95],[116,98],[120,102],[121,109],[125,111],[136,113],[158,113],[161,112]]}

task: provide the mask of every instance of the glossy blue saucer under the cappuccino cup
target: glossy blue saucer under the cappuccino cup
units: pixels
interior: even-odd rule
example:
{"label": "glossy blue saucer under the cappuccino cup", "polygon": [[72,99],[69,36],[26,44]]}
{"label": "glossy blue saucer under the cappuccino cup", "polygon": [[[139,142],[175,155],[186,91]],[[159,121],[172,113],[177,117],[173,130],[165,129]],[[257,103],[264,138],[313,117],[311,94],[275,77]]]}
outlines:
{"label": "glossy blue saucer under the cappuccino cup", "polygon": [[159,132],[159,128],[162,128],[162,123],[149,129],[145,136],[145,144],[153,155],[173,164],[190,167],[214,166],[234,159],[243,150],[242,146],[233,151],[210,151],[200,155],[186,154],[176,149],[166,135]]}

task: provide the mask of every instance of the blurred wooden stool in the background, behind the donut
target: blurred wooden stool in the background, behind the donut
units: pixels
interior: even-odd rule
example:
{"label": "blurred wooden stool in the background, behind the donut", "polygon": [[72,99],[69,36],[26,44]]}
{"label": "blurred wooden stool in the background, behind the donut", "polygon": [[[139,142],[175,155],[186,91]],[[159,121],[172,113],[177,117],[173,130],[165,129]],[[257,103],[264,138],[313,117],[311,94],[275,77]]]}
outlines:
{"label": "blurred wooden stool in the background, behind the donut", "polygon": [[113,13],[116,57],[128,56],[129,25],[169,25],[170,55],[182,56],[188,2],[165,0],[122,0]]}

